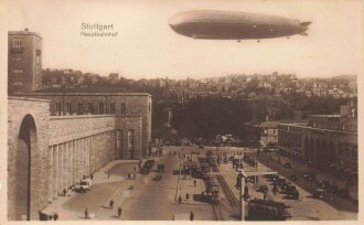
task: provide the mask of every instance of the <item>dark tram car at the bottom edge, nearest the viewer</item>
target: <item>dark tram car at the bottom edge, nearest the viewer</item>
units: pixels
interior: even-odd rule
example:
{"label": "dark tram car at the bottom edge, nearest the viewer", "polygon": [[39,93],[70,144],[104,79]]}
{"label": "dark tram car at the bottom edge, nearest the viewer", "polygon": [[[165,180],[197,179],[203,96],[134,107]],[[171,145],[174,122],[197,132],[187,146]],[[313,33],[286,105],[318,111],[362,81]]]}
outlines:
{"label": "dark tram car at the bottom edge, nearest the viewer", "polygon": [[248,203],[248,221],[287,221],[291,217],[291,206],[282,202],[254,199]]}

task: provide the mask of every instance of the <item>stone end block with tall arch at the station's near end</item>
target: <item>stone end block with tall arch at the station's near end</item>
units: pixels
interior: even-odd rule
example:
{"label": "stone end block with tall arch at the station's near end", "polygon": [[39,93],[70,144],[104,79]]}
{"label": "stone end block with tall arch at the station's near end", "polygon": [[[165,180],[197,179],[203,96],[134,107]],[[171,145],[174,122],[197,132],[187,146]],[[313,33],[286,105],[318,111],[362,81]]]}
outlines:
{"label": "stone end block with tall arch at the station's near end", "polygon": [[[49,100],[9,97],[8,218],[39,218],[47,204]],[[26,130],[30,135],[25,137]],[[35,132],[35,133],[34,133]],[[35,135],[35,137],[33,136]],[[20,137],[24,138],[20,138]],[[33,137],[32,137],[33,136]],[[29,156],[24,158],[24,154]],[[24,174],[25,173],[25,174]],[[28,179],[30,176],[30,179]],[[30,181],[30,182],[29,182]],[[29,197],[29,199],[28,199]],[[30,211],[28,212],[28,204]]]}

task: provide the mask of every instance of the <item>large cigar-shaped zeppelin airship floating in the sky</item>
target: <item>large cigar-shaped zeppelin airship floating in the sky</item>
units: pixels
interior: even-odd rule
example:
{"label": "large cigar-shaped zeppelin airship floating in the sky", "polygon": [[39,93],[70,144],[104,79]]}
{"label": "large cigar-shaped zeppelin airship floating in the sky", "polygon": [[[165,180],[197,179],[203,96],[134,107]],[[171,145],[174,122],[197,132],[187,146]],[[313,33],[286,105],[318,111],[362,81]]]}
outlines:
{"label": "large cigar-shaped zeppelin airship floating in the sky", "polygon": [[311,22],[248,12],[196,10],[175,14],[170,26],[193,39],[248,40],[308,35]]}

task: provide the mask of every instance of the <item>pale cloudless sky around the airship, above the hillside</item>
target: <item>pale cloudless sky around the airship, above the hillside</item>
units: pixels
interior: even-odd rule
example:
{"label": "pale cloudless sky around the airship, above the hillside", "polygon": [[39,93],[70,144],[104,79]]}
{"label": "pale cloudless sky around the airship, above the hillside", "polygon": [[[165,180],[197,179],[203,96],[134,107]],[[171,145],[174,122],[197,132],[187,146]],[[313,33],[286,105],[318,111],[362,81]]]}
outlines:
{"label": "pale cloudless sky around the airship, above the hillside", "polygon": [[[43,38],[43,68],[72,68],[127,78],[204,78],[293,73],[357,75],[363,64],[360,0],[8,0],[8,31]],[[309,36],[194,40],[169,20],[189,10],[227,10],[312,21]],[[82,23],[114,24],[115,38],[82,36]]]}

